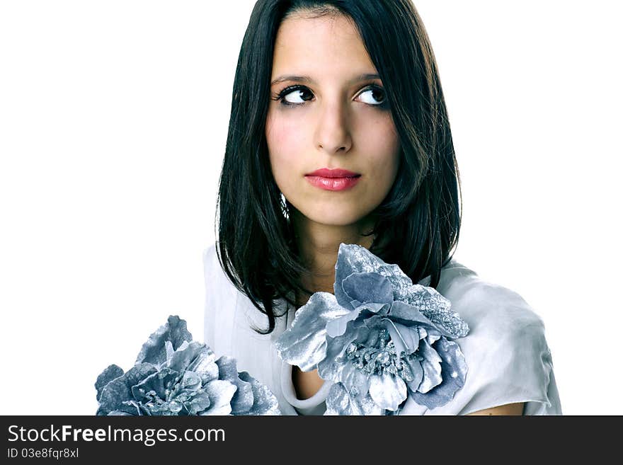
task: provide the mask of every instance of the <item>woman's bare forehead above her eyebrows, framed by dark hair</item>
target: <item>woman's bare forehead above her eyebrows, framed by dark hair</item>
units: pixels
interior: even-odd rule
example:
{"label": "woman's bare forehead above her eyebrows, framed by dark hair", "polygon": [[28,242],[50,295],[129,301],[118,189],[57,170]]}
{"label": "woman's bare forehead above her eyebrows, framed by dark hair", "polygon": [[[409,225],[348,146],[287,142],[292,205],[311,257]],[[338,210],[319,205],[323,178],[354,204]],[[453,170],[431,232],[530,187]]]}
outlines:
{"label": "woman's bare forehead above her eyebrows, framed by dark hair", "polygon": [[286,18],[275,38],[273,76],[286,72],[343,74],[372,72],[375,67],[359,32],[347,16]]}

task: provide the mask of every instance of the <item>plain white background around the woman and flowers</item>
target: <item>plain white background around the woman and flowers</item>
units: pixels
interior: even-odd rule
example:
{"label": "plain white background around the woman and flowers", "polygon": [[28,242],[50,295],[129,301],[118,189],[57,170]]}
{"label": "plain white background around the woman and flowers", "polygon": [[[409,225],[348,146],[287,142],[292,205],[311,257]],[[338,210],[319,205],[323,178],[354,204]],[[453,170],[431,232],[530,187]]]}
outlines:
{"label": "plain white background around the woman and flowers", "polygon": [[[93,414],[97,375],[169,314],[202,340],[253,3],[0,2],[1,414]],[[622,7],[416,6],[462,175],[455,258],[542,316],[564,413],[623,414]]]}

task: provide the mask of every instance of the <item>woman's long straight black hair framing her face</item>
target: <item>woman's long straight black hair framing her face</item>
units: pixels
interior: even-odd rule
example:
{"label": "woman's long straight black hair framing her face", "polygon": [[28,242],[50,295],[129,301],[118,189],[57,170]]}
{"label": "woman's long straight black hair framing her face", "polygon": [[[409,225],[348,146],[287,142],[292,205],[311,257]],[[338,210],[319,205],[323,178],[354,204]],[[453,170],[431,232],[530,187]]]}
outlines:
{"label": "woman's long straight black hair framing her face", "polygon": [[[258,0],[242,42],[217,201],[217,256],[229,280],[275,328],[275,299],[295,304],[307,272],[289,205],[270,170],[265,122],[273,47],[295,11],[352,18],[384,84],[401,145],[400,167],[375,210],[370,251],[413,282],[436,287],[461,224],[460,180],[450,122],[428,35],[411,0]],[[452,252],[453,253],[453,252]]]}

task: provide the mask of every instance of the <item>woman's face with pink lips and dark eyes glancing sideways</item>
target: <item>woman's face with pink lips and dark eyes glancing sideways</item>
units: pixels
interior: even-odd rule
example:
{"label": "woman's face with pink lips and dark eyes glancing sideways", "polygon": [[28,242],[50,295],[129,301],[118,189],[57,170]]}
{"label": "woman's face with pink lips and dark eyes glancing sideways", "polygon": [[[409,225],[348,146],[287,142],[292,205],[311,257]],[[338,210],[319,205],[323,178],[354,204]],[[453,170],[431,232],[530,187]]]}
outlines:
{"label": "woman's face with pink lips and dark eyes glancing sideways", "polygon": [[[394,183],[399,140],[375,75],[345,16],[280,25],[265,128],[270,166],[285,198],[313,222],[362,222]],[[311,175],[323,168],[350,173]]]}

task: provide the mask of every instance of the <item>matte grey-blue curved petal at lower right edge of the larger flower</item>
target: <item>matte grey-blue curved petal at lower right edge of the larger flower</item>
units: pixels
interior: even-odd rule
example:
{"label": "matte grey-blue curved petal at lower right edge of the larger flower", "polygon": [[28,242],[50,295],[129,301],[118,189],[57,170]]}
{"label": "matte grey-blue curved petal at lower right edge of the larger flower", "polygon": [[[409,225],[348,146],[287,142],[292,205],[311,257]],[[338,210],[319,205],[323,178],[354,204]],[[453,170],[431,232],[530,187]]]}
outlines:
{"label": "matte grey-blue curved petal at lower right edge of the larger flower", "polygon": [[440,338],[435,350],[441,355],[441,376],[443,381],[426,394],[411,393],[413,400],[428,408],[443,406],[450,402],[455,393],[465,384],[467,364],[461,348],[454,341]]}

